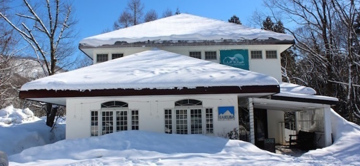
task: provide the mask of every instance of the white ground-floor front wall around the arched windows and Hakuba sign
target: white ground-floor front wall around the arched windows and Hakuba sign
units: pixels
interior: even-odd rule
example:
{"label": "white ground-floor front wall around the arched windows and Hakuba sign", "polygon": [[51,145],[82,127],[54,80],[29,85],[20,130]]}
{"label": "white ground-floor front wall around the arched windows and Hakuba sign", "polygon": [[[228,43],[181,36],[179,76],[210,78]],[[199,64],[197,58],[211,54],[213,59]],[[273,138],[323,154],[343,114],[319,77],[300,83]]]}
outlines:
{"label": "white ground-floor front wall around the arched windows and Hakuba sign", "polygon": [[[91,136],[91,111],[100,110],[101,103],[122,101],[129,109],[139,110],[139,130],[165,133],[164,109],[174,108],[174,102],[183,99],[196,99],[203,107],[213,108],[214,135],[221,136],[239,126],[237,95],[164,95],[164,96],[126,96],[126,97],[87,97],[66,100],[66,139]],[[235,120],[218,121],[218,106],[234,106]],[[203,109],[205,114],[205,109]],[[203,119],[204,121],[204,119]],[[204,124],[204,123],[203,123]],[[203,131],[205,126],[203,125]]]}

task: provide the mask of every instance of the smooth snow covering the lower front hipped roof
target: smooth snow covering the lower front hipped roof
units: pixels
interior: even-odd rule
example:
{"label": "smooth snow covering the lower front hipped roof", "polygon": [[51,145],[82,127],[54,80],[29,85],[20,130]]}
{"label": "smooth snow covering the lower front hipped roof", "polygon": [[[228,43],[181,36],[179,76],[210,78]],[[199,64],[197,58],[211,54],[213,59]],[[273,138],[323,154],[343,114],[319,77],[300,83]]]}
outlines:
{"label": "smooth snow covering the lower front hipped roof", "polygon": [[261,73],[150,50],[28,82],[27,90],[174,89],[266,86],[278,81]]}

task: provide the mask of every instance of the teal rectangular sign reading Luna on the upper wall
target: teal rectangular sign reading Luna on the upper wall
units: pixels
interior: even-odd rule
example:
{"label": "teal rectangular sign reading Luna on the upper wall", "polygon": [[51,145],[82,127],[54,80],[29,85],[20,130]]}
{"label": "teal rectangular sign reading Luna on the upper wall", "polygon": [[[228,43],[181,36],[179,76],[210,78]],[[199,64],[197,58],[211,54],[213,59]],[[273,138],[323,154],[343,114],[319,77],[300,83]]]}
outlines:
{"label": "teal rectangular sign reading Luna on the upper wall", "polygon": [[220,50],[220,63],[232,67],[249,69],[249,56],[247,49]]}

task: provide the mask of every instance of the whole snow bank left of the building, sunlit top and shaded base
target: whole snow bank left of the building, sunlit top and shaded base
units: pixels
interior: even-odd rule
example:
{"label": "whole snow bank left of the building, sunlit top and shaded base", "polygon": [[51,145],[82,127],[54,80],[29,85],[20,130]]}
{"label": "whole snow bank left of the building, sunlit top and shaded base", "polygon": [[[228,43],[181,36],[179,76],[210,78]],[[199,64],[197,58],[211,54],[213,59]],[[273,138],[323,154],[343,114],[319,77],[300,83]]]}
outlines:
{"label": "whole snow bank left of the building, sunlit top and shaded base", "polygon": [[12,105],[0,109],[0,151],[8,155],[65,139],[65,123],[57,123],[53,132],[46,122],[33,116],[30,109]]}

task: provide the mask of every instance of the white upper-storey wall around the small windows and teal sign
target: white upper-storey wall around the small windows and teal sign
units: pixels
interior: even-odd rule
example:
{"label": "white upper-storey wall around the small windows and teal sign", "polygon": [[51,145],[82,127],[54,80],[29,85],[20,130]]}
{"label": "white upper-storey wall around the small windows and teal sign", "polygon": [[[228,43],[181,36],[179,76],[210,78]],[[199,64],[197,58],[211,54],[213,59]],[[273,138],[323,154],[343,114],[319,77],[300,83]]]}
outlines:
{"label": "white upper-storey wall around the small windows and teal sign", "polygon": [[[249,70],[264,73],[281,81],[281,62],[280,53],[291,45],[221,45],[221,46],[166,46],[159,47],[169,52],[183,54],[189,56],[190,51],[201,51],[202,59],[205,59],[205,51],[217,51],[217,60],[210,60],[219,63],[220,50],[230,49],[248,49],[249,50]],[[137,52],[151,50],[152,47],[119,47],[119,48],[96,48],[92,50],[94,57],[94,64],[96,63],[96,54],[108,54],[108,59],[111,60],[112,53],[123,53],[124,56],[129,56]],[[86,49],[85,49],[86,50]],[[262,59],[251,59],[251,50],[262,50]],[[265,50],[276,50],[277,59],[266,59]],[[88,51],[86,51],[88,52]]]}

